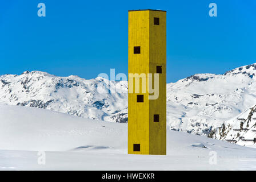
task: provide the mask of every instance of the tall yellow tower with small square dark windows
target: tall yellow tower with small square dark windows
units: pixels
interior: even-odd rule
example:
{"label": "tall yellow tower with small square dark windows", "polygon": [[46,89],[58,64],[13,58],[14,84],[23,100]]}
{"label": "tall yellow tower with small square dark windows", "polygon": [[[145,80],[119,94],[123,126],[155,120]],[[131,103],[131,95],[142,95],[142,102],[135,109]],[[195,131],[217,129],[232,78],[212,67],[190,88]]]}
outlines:
{"label": "tall yellow tower with small square dark windows", "polygon": [[[166,11],[129,11],[128,61],[128,154],[166,155]],[[154,99],[148,73],[153,88],[154,73],[159,76]]]}

